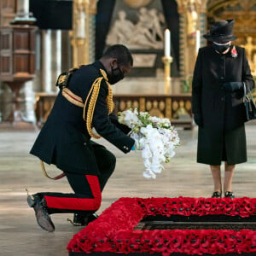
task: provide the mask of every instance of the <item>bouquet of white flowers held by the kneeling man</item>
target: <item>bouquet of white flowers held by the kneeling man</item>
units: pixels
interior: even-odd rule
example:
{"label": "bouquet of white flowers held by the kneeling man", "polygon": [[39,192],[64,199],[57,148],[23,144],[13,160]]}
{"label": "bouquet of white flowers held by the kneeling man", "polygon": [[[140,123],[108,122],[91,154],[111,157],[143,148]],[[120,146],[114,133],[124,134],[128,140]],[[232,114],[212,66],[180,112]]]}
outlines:
{"label": "bouquet of white flowers held by the kneeling man", "polygon": [[146,171],[143,177],[155,178],[162,172],[163,162],[169,162],[179,145],[177,131],[169,119],[150,116],[148,112],[138,112],[137,108],[119,113],[119,123],[131,128],[130,136],[136,141],[135,148],[142,150]]}

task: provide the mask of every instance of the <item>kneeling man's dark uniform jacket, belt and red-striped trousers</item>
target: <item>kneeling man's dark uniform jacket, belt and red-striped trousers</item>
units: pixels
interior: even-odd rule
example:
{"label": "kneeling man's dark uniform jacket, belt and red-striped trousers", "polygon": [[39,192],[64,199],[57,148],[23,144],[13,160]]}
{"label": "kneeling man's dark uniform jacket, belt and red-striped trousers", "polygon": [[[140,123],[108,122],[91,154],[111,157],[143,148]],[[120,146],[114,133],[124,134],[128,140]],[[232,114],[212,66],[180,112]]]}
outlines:
{"label": "kneeling man's dark uniform jacket, belt and red-striped trousers", "polygon": [[[100,61],[82,66],[68,81],[67,88],[60,90],[54,107],[34,143],[31,154],[48,164],[55,164],[67,176],[74,194],[40,193],[43,195],[49,213],[53,212],[95,212],[101,204],[102,189],[115,166],[115,156],[102,145],[90,140],[86,127],[86,101],[96,79],[100,79],[91,125],[97,133],[114,146],[128,153],[134,140],[125,132],[113,114],[108,113],[107,98],[109,84]],[[84,113],[85,112],[85,113]],[[124,132],[125,131],[125,132]]]}

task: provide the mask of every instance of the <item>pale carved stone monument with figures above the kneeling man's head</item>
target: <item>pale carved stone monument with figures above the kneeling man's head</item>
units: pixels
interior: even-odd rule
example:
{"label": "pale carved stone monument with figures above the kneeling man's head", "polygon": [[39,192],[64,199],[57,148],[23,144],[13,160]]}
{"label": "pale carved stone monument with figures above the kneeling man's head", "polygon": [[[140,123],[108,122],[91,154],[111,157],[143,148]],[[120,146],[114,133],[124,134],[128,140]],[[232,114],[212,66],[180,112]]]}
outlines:
{"label": "pale carved stone monument with figures above the kneeling man's head", "polygon": [[156,76],[156,68],[162,66],[164,25],[165,18],[157,9],[138,9],[137,22],[129,20],[125,10],[119,10],[106,44],[125,44],[131,49],[134,58],[131,76]]}

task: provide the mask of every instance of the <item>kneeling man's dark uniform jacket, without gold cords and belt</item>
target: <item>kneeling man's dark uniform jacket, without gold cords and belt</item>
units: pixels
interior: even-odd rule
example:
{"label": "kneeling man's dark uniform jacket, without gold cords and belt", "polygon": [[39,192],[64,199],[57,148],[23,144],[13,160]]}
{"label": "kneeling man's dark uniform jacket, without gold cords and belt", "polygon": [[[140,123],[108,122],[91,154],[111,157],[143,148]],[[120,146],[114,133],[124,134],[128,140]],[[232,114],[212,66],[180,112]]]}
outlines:
{"label": "kneeling man's dark uniform jacket, without gold cords and belt", "polygon": [[[96,78],[102,76],[100,68],[104,69],[100,61],[80,67],[73,73],[68,89],[85,102],[91,85]],[[107,96],[108,85],[102,79],[92,125],[109,143],[128,153],[135,142],[120,130],[124,128],[123,125],[120,125],[116,119],[111,121],[106,103]],[[83,110],[67,101],[60,91],[30,153],[48,164],[55,164],[64,172],[83,170],[86,174],[97,175],[96,159],[83,119]],[[129,130],[126,129],[126,131]]]}

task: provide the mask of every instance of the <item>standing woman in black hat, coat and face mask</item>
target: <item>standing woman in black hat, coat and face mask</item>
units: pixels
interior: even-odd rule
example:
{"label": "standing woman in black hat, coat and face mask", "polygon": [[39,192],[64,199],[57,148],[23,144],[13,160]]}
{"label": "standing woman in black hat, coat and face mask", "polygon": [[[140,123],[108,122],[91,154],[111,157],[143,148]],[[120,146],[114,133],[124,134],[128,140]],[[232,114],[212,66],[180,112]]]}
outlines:
{"label": "standing woman in black hat, coat and face mask", "polygon": [[[219,20],[204,35],[212,44],[199,49],[192,82],[192,111],[198,130],[197,162],[210,165],[212,197],[234,198],[232,177],[236,164],[247,161],[242,102],[244,86],[254,82],[245,49],[231,44],[234,20]],[[224,161],[224,189],[220,166]]]}

